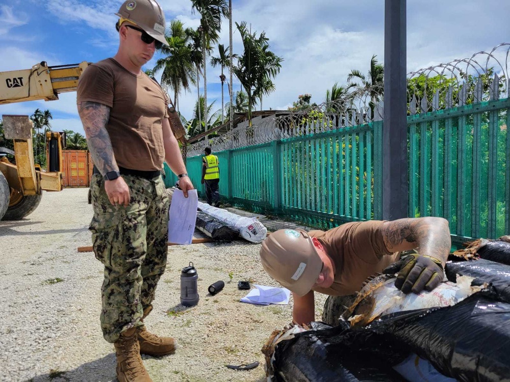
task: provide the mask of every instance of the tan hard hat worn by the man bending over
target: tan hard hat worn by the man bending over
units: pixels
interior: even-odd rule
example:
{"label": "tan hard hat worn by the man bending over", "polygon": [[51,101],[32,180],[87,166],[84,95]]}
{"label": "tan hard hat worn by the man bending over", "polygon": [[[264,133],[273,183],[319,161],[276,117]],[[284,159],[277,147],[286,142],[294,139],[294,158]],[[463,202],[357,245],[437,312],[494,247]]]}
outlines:
{"label": "tan hard hat worn by the man bending over", "polygon": [[302,230],[273,232],[262,242],[260,258],[269,276],[300,296],[310,292],[322,268],[312,237]]}

